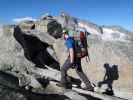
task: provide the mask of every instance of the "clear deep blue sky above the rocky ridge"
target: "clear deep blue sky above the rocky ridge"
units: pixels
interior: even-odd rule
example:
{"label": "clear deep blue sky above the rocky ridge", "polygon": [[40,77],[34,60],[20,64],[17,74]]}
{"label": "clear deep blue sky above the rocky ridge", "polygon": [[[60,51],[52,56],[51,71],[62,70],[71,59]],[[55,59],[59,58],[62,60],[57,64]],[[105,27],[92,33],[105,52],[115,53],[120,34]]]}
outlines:
{"label": "clear deep blue sky above the rocky ridge", "polygon": [[121,25],[133,31],[133,0],[0,0],[0,23],[14,19],[38,19],[44,13],[72,16],[98,25]]}

